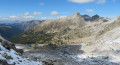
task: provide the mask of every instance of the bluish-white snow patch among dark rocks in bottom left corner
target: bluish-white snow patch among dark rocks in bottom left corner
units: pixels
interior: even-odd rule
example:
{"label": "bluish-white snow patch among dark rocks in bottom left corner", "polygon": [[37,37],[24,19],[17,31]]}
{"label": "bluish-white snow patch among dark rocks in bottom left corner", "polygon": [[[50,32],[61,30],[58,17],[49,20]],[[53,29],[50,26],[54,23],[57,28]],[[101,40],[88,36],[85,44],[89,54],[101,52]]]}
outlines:
{"label": "bluish-white snow patch among dark rocks in bottom left corner", "polygon": [[0,45],[0,59],[6,59],[1,54],[7,54],[8,56],[11,56],[13,59],[6,59],[8,64],[14,64],[15,65],[42,65],[42,62],[40,61],[32,61],[27,58],[23,58],[19,55],[17,55],[17,52],[13,49],[7,50],[3,46]]}

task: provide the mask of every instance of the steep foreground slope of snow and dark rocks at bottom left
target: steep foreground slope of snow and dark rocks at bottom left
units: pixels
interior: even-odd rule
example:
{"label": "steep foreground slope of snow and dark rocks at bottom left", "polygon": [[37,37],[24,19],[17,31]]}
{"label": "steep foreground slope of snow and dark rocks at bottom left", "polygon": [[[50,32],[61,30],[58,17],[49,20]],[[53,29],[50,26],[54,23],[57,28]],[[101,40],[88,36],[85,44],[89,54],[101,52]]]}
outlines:
{"label": "steep foreground slope of snow and dark rocks at bottom left", "polygon": [[33,61],[15,51],[15,45],[0,36],[0,65],[42,65],[41,61]]}

